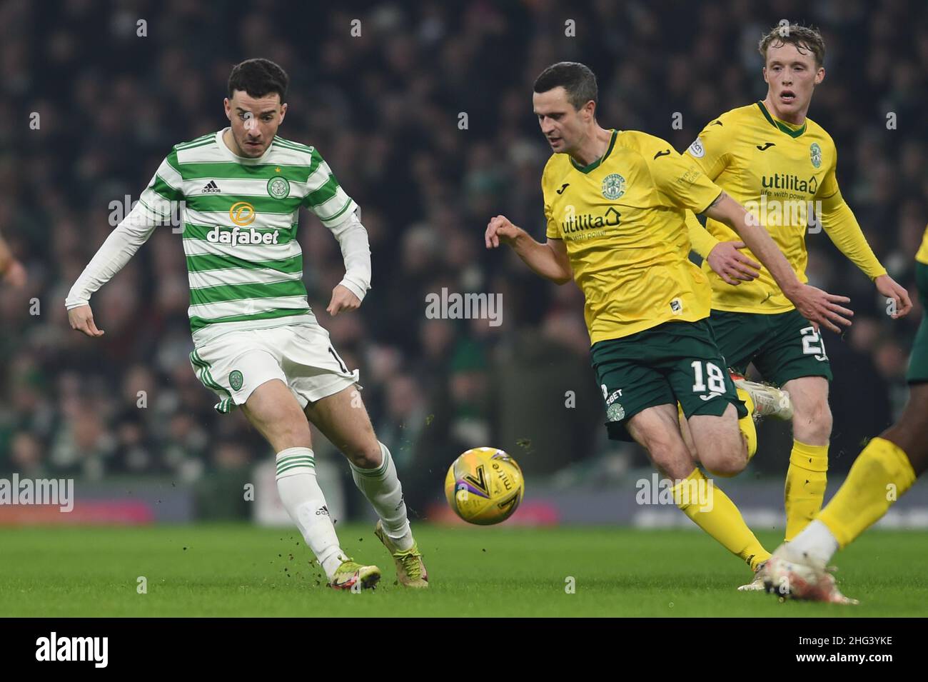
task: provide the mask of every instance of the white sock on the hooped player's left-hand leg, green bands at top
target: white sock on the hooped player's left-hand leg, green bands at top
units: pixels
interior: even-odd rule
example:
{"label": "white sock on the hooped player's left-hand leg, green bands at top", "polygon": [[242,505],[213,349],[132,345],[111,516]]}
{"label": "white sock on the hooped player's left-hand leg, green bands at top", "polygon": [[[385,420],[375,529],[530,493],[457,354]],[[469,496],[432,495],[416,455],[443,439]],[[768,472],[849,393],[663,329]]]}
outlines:
{"label": "white sock on the hooped player's left-hand leg, green bands at top", "polygon": [[310,448],[289,447],[277,453],[277,493],[331,580],[346,557],[329,517],[326,498],[316,483],[316,457]]}

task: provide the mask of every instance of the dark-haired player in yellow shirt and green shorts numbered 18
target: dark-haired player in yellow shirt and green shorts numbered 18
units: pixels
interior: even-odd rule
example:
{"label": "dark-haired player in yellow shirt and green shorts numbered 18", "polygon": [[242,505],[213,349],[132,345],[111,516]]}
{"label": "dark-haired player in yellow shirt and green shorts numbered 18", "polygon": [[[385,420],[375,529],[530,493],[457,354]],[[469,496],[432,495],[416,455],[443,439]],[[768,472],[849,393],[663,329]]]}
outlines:
{"label": "dark-haired player in yellow shirt and green shorts numbered 18", "polygon": [[644,446],[676,482],[677,506],[756,569],[769,555],[728,496],[707,484],[677,418],[679,403],[706,470],[732,476],[747,465],[754,423],[706,320],[711,290],[689,260],[685,211],[736,229],[810,319],[850,324],[843,315],[851,312],[839,304],[847,299],[801,284],[767,232],[664,140],[600,127],[596,77],[586,66],[554,64],[534,90],[535,114],[554,152],[542,176],[547,242],[497,215],[486,246],[508,243],[538,275],[576,281],[610,437]]}

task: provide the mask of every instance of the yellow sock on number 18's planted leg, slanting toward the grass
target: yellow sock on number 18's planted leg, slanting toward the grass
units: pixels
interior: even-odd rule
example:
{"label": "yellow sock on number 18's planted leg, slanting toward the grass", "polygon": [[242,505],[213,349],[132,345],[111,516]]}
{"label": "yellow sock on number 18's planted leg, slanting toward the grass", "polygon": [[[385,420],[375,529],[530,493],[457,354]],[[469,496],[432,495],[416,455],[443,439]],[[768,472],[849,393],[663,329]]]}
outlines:
{"label": "yellow sock on number 18's planted leg, slanting toward the grass", "polygon": [[729,552],[745,560],[752,571],[770,557],[741,518],[735,503],[702,471],[694,469],[685,481],[674,486],[672,492],[674,502],[684,514]]}

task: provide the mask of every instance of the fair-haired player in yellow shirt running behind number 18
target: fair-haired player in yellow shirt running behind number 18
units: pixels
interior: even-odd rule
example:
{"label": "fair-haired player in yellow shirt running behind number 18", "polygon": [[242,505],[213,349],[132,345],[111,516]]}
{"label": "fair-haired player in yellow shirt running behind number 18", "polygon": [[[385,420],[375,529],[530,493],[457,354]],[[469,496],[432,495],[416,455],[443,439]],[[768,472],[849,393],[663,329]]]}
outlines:
{"label": "fair-haired player in yellow shirt running behind number 18", "polygon": [[[894,318],[907,315],[908,292],[886,274],[841,195],[831,136],[806,117],[815,86],[825,77],[821,35],[804,26],[777,26],[759,49],[767,97],[710,122],[685,155],[767,225],[801,281],[808,281],[811,221],[824,226],[838,249],[895,301]],[[692,213],[688,225],[693,250],[705,259],[702,270],[712,285],[709,321],[728,367],[744,374],[753,363],[764,380],[789,393],[793,404],[793,452],[784,494],[790,540],[815,517],[825,494],[831,438],[828,354],[814,320],[796,310],[767,268],[754,263],[750,245],[742,249],[743,239],[711,215],[705,229]]]}

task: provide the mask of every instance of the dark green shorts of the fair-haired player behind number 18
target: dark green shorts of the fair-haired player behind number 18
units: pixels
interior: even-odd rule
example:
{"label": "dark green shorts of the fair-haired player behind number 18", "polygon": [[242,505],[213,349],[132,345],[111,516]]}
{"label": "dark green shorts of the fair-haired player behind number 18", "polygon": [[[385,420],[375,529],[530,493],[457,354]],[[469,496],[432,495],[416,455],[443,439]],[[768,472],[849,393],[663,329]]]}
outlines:
{"label": "dark green shorts of the fair-haired player behind number 18", "polygon": [[718,350],[739,374],[754,363],[761,377],[777,386],[800,377],[831,381],[825,342],[797,310],[775,315],[714,310],[709,323]]}

